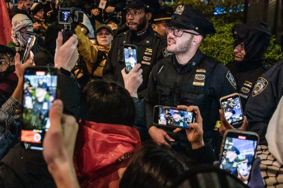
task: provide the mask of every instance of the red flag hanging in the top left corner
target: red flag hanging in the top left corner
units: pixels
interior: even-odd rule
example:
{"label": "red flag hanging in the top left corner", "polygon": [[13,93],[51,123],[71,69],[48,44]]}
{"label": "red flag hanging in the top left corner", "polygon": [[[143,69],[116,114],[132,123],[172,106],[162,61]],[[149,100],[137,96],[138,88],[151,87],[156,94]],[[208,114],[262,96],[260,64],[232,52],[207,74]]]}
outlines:
{"label": "red flag hanging in the top left corner", "polygon": [[0,44],[7,45],[12,36],[12,24],[5,0],[0,0]]}

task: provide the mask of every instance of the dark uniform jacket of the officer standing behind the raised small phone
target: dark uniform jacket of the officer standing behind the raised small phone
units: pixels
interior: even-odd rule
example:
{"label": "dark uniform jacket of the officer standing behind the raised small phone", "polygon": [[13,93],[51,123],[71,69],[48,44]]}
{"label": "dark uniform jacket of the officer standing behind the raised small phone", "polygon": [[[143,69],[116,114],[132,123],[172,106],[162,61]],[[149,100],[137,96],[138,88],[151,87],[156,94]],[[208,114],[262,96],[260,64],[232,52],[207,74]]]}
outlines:
{"label": "dark uniform jacket of the officer standing behind the raised small phone", "polygon": [[[149,75],[153,65],[164,57],[164,50],[167,44],[162,41],[162,36],[156,33],[151,27],[148,28],[146,34],[136,41],[132,37],[130,30],[119,34],[112,43],[112,48],[108,53],[108,57],[103,69],[103,77],[107,80],[116,81],[124,86],[124,80],[121,70],[125,68],[124,60],[124,44],[134,44],[137,46],[136,56],[137,63],[141,64],[143,69],[143,83],[137,89],[137,92],[145,90],[148,86]],[[138,93],[139,98],[144,97],[146,91]]]}

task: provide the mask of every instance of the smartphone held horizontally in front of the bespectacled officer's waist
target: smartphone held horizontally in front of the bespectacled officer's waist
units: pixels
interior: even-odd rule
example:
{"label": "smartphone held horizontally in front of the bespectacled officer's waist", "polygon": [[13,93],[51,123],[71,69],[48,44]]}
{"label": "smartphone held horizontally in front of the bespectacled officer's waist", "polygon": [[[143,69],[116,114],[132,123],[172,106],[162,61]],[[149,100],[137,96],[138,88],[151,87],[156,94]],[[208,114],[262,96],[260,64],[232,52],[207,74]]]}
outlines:
{"label": "smartphone held horizontally in front of the bespectacled officer's waist", "polygon": [[180,110],[174,107],[154,107],[153,123],[158,126],[191,129],[189,124],[196,122],[196,112]]}

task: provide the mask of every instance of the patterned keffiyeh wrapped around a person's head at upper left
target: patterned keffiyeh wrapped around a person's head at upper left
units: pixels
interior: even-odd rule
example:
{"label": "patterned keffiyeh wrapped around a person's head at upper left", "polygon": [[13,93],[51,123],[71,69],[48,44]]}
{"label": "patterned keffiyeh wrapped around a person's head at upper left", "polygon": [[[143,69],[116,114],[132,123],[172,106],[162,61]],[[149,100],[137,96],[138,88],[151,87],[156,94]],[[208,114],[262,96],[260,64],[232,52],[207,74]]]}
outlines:
{"label": "patterned keffiyeh wrapped around a person's head at upper left", "polygon": [[12,19],[12,39],[17,45],[25,46],[30,35],[33,35],[33,28],[21,32],[20,29],[26,26],[33,26],[32,21],[24,14],[16,14]]}

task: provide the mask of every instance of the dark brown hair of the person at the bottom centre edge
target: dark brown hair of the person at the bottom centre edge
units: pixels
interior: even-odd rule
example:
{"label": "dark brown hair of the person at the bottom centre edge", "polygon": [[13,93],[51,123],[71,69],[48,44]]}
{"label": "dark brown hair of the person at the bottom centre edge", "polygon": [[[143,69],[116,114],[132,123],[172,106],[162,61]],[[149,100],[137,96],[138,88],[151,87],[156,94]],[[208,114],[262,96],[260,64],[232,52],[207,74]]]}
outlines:
{"label": "dark brown hair of the person at the bottom centre edge", "polygon": [[196,164],[188,160],[168,146],[146,143],[134,154],[119,187],[173,187],[188,169],[186,164]]}

